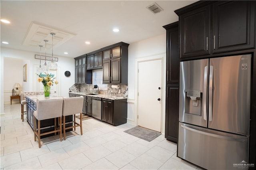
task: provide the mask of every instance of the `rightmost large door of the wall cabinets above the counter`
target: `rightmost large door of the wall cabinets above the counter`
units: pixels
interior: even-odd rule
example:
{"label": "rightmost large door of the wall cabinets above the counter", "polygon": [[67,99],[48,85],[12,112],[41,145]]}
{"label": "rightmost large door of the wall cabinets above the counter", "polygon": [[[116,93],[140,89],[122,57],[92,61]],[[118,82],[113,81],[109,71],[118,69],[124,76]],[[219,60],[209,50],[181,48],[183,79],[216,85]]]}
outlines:
{"label": "rightmost large door of the wall cabinets above the counter", "polygon": [[121,83],[121,58],[111,59],[111,83]]}

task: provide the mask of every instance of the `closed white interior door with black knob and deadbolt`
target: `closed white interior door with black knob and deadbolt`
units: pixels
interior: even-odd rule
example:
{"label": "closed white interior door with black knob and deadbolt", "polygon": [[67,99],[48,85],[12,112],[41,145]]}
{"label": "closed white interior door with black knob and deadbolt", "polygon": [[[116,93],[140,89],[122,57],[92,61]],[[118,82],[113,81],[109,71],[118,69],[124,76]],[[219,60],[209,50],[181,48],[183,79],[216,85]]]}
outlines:
{"label": "closed white interior door with black knob and deadbolt", "polygon": [[138,126],[161,132],[162,59],[138,62]]}

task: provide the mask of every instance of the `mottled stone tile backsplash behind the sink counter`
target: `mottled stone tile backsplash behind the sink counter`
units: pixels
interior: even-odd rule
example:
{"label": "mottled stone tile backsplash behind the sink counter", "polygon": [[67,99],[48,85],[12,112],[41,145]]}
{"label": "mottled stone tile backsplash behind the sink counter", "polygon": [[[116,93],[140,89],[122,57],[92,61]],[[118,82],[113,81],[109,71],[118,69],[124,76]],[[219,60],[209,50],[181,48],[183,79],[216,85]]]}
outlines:
{"label": "mottled stone tile backsplash behind the sink counter", "polygon": [[108,90],[98,90],[98,89],[93,89],[92,84],[74,84],[69,88],[69,92],[99,93],[102,95],[127,97],[128,96],[128,85],[112,86],[112,85],[108,84]]}

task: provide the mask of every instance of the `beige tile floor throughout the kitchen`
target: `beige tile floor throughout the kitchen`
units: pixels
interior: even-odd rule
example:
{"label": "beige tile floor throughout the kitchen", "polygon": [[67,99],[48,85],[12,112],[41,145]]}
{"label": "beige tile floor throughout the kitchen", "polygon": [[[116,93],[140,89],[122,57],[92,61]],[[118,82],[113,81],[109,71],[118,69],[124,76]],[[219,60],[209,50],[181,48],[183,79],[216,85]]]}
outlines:
{"label": "beige tile floor throughout the kitchen", "polygon": [[118,127],[95,119],[83,121],[80,130],[34,141],[34,132],[20,119],[20,104],[4,105],[1,116],[0,170],[106,170],[160,169],[195,170],[198,167],[176,157],[176,144],[164,135],[148,142],[124,132],[134,125]]}

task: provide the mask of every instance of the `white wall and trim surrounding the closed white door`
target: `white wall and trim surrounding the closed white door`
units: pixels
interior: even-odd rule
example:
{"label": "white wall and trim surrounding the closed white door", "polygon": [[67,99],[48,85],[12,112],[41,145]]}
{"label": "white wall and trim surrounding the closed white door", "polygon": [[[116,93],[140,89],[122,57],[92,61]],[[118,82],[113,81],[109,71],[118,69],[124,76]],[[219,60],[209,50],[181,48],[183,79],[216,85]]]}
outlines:
{"label": "white wall and trim surrounding the closed white door", "polygon": [[136,114],[136,60],[161,54],[163,57],[162,133],[165,127],[166,94],[166,34],[132,43],[128,48],[128,123],[137,125]]}

